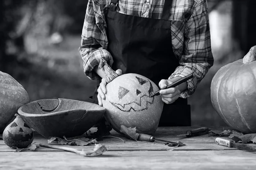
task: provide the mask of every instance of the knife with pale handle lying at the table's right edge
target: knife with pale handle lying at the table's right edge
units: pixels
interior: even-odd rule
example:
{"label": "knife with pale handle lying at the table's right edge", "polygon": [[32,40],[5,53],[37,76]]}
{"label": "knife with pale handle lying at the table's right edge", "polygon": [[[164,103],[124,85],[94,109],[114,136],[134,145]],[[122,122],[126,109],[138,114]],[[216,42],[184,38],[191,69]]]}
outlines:
{"label": "knife with pale handle lying at the table's right edge", "polygon": [[239,150],[246,150],[249,152],[256,152],[256,148],[253,146],[250,146],[248,144],[240,144],[236,143],[232,139],[224,139],[224,138],[216,138],[215,142],[219,145],[226,146],[226,147],[234,147]]}

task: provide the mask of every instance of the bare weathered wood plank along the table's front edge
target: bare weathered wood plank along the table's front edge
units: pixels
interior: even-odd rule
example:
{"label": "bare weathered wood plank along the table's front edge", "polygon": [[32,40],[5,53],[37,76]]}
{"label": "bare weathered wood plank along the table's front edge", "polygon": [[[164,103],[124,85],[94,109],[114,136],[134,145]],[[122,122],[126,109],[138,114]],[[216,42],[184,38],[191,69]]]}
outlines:
{"label": "bare weathered wood plank along the table's front edge", "polygon": [[98,157],[69,152],[0,153],[0,167],[13,169],[241,170],[256,167],[256,154],[230,151],[108,151]]}

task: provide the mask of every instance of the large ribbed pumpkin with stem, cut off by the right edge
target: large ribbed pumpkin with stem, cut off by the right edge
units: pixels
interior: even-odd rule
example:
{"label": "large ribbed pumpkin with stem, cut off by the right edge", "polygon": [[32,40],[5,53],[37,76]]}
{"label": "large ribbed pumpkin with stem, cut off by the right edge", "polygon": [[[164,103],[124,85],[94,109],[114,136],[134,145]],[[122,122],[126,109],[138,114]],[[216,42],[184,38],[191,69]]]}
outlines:
{"label": "large ribbed pumpkin with stem, cut off by the right edge", "polygon": [[256,133],[256,46],[220,68],[212,79],[211,101],[219,116],[244,133]]}

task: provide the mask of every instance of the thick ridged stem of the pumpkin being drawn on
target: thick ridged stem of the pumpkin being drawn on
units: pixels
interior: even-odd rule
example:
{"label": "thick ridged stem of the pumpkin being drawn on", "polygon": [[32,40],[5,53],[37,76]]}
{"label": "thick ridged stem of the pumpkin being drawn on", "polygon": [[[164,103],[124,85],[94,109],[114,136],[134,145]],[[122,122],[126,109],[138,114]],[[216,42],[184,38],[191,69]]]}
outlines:
{"label": "thick ridged stem of the pumpkin being drawn on", "polygon": [[113,79],[119,76],[118,74],[116,74],[116,71],[113,71],[113,69],[103,58],[100,59],[99,69],[102,69],[102,71],[104,72],[107,83],[111,82]]}

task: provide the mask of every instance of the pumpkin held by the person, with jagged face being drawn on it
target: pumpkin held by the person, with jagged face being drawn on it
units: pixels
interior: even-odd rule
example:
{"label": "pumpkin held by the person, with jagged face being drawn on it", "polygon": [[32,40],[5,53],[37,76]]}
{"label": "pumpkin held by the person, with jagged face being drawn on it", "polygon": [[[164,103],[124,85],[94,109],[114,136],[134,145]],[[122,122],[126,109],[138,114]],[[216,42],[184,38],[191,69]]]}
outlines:
{"label": "pumpkin held by the person, with jagged face being drawn on it", "polygon": [[121,133],[120,126],[125,125],[137,127],[141,133],[154,133],[163,111],[161,96],[151,97],[159,90],[157,85],[139,74],[118,76],[107,63],[103,67],[100,65],[100,68],[108,82],[102,105],[106,108],[105,117],[113,129]]}

